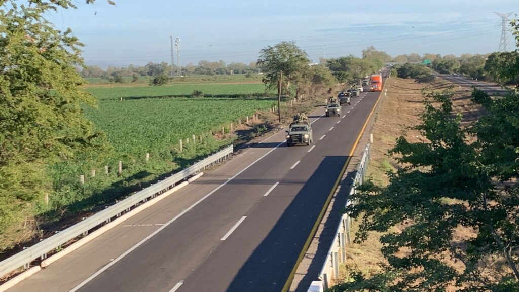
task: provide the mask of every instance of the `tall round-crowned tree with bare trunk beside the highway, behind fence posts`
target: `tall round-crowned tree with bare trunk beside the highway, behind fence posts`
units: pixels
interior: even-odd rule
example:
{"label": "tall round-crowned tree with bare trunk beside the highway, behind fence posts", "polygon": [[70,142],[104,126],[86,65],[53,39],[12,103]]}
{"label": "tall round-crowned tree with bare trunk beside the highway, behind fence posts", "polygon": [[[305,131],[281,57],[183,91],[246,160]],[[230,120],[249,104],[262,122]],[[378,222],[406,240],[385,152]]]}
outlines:
{"label": "tall round-crowned tree with bare trunk beside the highway, behind fence posts", "polygon": [[262,79],[267,88],[277,87],[278,116],[281,122],[281,90],[283,76],[287,87],[293,75],[308,68],[308,55],[294,42],[281,42],[274,46],[267,46],[260,51],[257,65],[262,68],[266,76]]}

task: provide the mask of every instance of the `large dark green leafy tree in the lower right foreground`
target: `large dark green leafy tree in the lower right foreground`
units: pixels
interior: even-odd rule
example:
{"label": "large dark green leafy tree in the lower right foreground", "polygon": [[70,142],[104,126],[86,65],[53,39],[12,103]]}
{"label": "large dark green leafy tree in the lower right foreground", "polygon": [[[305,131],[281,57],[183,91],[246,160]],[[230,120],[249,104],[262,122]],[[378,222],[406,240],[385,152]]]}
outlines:
{"label": "large dark green leafy tree in the lower right foreground", "polygon": [[400,137],[390,153],[401,168],[388,172],[389,185],[368,181],[350,198],[358,204],[347,207],[352,217],[363,215],[356,241],[384,233],[388,265],[369,278],[356,274],[334,291],[519,289],[519,97],[491,99],[475,90],[473,100],[486,114],[467,128],[453,115],[453,91],[425,97],[422,123],[413,127],[425,141]]}

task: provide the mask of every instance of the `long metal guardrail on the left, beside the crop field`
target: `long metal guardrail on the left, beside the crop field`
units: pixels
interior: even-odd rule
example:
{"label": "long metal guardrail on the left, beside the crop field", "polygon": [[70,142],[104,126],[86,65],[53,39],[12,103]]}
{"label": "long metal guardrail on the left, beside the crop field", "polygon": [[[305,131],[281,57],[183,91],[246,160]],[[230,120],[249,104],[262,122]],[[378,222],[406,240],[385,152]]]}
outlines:
{"label": "long metal guardrail on the left, beside the crop field", "polygon": [[229,147],[207,157],[203,160],[195,163],[192,166],[189,166],[186,169],[183,169],[171,177],[157,182],[150,187],[137,192],[124,200],[100,211],[99,213],[78,222],[71,227],[60,231],[57,234],[52,235],[45,240],[26,248],[20,251],[18,254],[13,255],[3,261],[0,262],[0,276],[5,276],[6,274],[15,271],[21,267],[29,268],[29,265],[35,259],[41,257],[45,259],[47,257],[47,253],[60,247],[61,245],[69,242],[73,238],[80,236],[82,234],[87,234],[89,230],[98,227],[101,224],[110,222],[112,218],[116,218],[124,213],[125,211],[129,211],[132,207],[141,204],[142,202],[146,202],[148,198],[155,197],[158,194],[161,194],[163,191],[167,190],[177,182],[185,180],[187,177],[197,174],[197,172],[206,169],[207,167],[213,166],[217,163],[222,162],[227,157],[233,153],[234,147],[230,145]]}

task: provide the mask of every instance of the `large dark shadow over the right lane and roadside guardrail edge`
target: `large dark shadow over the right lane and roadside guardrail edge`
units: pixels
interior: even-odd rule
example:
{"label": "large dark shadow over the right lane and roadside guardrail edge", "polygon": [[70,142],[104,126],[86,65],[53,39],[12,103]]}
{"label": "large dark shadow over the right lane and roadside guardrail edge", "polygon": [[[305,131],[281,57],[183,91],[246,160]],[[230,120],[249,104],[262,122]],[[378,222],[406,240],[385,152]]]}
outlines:
{"label": "large dark shadow over the right lane and roadside guardrail edge", "polygon": [[[323,158],[317,170],[293,197],[274,228],[241,267],[227,291],[281,290],[347,158],[347,156]],[[287,179],[281,181],[281,184],[290,183],[290,178]],[[345,182],[347,181],[349,180],[346,179]],[[332,220],[325,224],[326,235],[320,238],[316,251],[317,261],[311,264],[309,273],[303,280],[305,283],[317,280],[331,240],[333,240],[337,220],[340,218],[346,202],[344,195],[346,189],[344,188],[344,191],[340,192],[334,202]]]}

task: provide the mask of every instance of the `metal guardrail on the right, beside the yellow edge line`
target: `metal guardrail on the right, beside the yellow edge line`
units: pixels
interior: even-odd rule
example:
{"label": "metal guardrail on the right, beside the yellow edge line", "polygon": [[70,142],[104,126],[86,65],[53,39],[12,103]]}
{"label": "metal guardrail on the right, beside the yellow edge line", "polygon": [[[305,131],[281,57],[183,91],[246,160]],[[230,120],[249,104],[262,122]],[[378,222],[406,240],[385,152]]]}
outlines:
{"label": "metal guardrail on the right, beside the yellow edge line", "polygon": [[[364,154],[362,155],[361,162],[357,167],[357,174],[353,179],[353,185],[351,187],[349,196],[356,192],[356,187],[361,185],[364,182],[364,176],[366,175],[367,166],[370,164],[370,149],[371,144],[367,144],[364,149]],[[356,202],[350,201],[348,197],[348,201],[346,202],[346,206],[355,205]],[[320,289],[328,289],[329,284],[334,278],[339,276],[339,263],[342,263],[346,260],[345,248],[347,244],[351,243],[350,236],[350,225],[351,220],[348,214],[343,214],[342,220],[340,220],[337,230],[335,232],[335,239],[328,250],[328,254],[326,256],[326,260],[324,261],[321,272],[319,273],[319,280],[314,281],[312,286],[308,289],[308,291],[314,291],[318,288]]]}

